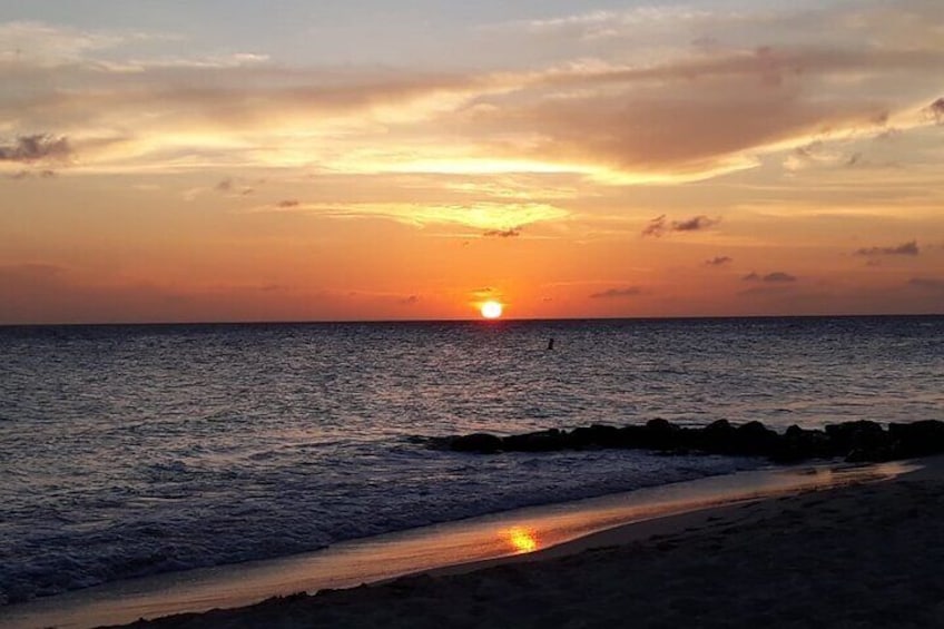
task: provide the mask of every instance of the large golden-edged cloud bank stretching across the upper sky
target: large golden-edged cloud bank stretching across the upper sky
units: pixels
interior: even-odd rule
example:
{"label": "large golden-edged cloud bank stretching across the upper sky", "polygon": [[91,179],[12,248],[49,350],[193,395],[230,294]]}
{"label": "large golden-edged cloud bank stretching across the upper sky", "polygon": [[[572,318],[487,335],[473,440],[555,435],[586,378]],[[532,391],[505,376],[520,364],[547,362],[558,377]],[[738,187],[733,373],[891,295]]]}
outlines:
{"label": "large golden-edged cloud bank stretching across the upper sky", "polygon": [[[917,126],[912,118],[944,63],[940,20],[930,2],[872,4],[551,16],[512,27],[537,33],[523,39],[550,33],[609,48],[522,50],[523,60],[482,63],[495,68],[489,72],[285,66],[245,53],[117,63],[110,49],[138,36],[7,24],[27,43],[65,52],[41,62],[3,57],[0,120],[19,134],[57,125],[87,164],[116,170],[426,166],[611,184],[699,180],[813,141]],[[653,29],[655,48],[640,45]],[[10,40],[3,33],[0,41]],[[715,43],[692,48],[705,33]],[[932,104],[922,124],[942,107]]]}

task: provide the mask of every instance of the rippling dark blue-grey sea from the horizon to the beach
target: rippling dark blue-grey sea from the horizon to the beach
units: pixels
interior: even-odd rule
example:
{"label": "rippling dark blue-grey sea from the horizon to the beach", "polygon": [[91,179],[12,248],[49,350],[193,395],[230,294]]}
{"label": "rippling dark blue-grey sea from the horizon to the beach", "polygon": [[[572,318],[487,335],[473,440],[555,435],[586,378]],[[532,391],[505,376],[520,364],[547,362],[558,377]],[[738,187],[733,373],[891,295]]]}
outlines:
{"label": "rippling dark blue-grey sea from the horizon to the beach", "polygon": [[766,465],[415,435],[944,420],[942,376],[942,316],[0,327],[0,605]]}

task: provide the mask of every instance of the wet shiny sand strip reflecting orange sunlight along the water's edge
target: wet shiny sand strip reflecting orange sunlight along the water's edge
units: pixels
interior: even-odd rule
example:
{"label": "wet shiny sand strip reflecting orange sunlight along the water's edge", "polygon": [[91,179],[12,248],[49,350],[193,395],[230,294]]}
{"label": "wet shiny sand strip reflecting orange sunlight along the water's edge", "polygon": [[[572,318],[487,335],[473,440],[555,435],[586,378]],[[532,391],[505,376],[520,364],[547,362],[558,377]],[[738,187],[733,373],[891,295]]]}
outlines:
{"label": "wet shiny sand strip reflecting orange sunlight along the water's edge", "polygon": [[518,509],[344,542],[304,556],[129,580],[37,599],[0,608],[0,625],[79,628],[130,622],[141,617],[233,609],[298,591],[353,588],[363,582],[383,584],[409,574],[451,576],[554,559],[594,546],[636,541],[673,530],[675,525],[690,528],[714,517],[715,511],[735,509],[732,504],[745,501],[867,482],[905,471],[907,466],[902,463],[802,465]]}

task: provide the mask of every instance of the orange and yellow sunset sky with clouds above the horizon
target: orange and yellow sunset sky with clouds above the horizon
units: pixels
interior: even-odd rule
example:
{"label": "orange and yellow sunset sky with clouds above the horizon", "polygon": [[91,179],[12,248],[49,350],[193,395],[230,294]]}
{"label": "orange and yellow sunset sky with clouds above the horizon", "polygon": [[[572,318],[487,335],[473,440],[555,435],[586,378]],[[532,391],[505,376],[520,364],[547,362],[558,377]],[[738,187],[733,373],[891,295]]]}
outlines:
{"label": "orange and yellow sunset sky with clouds above the horizon", "polygon": [[0,0],[0,324],[944,313],[944,3]]}

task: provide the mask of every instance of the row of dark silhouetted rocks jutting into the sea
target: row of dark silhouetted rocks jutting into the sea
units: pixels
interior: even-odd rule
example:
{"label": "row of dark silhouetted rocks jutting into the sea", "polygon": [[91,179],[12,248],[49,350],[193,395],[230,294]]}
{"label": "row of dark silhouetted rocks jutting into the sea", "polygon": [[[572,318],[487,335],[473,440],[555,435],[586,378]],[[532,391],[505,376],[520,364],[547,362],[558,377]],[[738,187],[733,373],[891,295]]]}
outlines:
{"label": "row of dark silhouetted rocks jutting into the sea", "polygon": [[780,463],[832,458],[877,462],[944,453],[944,422],[927,420],[891,424],[887,429],[868,421],[828,424],[824,430],[793,425],[780,434],[760,422],[734,425],[718,420],[704,427],[686,427],[656,419],[642,425],[622,427],[593,424],[509,436],[473,433],[431,440],[431,443],[456,452],[482,454],[633,449],[766,456]]}

